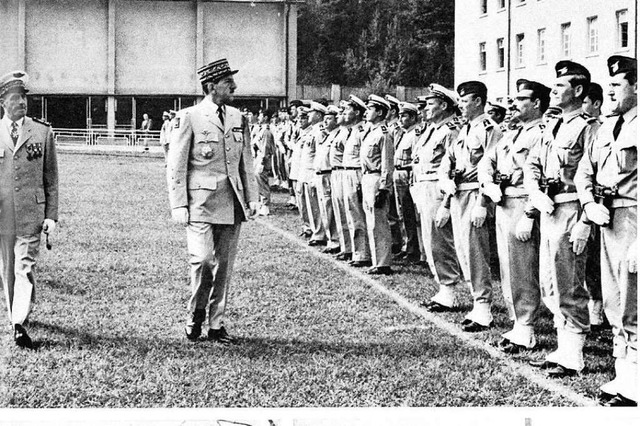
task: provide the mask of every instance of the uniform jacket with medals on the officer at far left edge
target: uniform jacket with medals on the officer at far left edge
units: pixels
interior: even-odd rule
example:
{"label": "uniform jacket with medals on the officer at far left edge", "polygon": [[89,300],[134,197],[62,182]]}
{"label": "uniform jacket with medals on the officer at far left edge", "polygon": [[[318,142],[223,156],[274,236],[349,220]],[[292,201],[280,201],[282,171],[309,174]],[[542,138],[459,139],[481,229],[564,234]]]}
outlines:
{"label": "uniform jacket with medals on the officer at far left edge", "polygon": [[58,163],[53,131],[25,117],[14,148],[0,121],[0,234],[36,235],[58,220]]}

